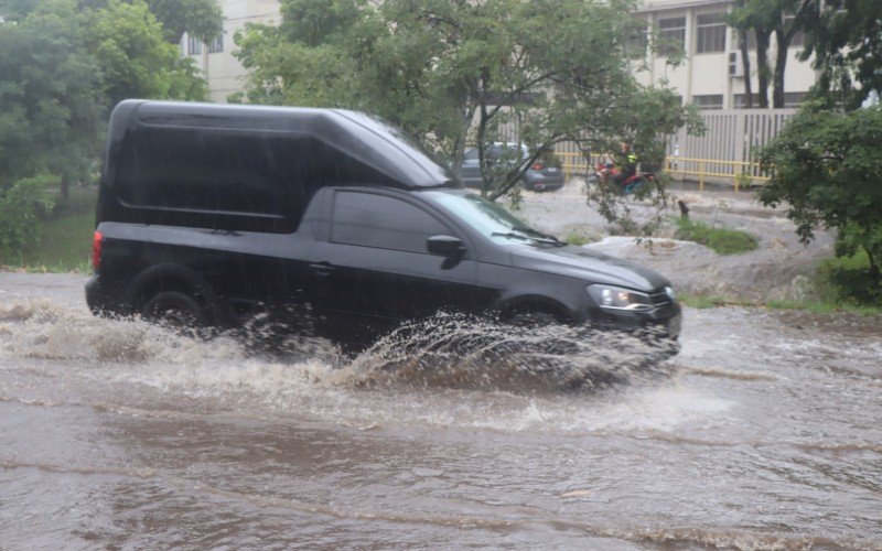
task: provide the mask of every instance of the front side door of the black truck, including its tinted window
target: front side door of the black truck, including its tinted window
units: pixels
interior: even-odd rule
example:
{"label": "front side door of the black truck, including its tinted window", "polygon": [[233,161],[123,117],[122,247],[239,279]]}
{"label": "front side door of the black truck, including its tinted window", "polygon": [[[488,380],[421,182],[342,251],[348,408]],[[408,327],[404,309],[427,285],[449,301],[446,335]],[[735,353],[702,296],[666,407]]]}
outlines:
{"label": "front side door of the black truck, including its tinted window", "polygon": [[426,241],[438,235],[461,237],[405,197],[337,190],[330,235],[311,255],[315,307],[355,341],[440,310],[467,311],[476,262],[430,255]]}

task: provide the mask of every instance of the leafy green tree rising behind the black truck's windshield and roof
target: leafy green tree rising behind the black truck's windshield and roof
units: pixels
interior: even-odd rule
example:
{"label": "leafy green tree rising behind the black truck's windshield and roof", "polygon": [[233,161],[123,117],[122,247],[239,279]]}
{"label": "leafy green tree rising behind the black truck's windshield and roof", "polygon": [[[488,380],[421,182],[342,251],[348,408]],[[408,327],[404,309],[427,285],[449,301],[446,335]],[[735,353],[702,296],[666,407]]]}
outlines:
{"label": "leafy green tree rising behind the black truck's windshield and roof", "polygon": [[[368,110],[454,164],[476,145],[482,192],[497,198],[559,142],[598,151],[685,120],[674,101],[665,104],[671,117],[634,116],[660,91],[632,75],[633,8],[628,0],[283,0],[279,28],[250,26],[236,42],[251,69],[251,101]],[[530,156],[496,174],[484,151],[506,129]]]}

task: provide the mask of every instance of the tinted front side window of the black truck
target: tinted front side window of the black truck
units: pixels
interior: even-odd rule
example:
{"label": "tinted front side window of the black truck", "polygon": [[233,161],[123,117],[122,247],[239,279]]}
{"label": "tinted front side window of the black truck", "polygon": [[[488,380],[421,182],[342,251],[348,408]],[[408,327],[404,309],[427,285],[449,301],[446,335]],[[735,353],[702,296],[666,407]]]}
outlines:
{"label": "tinted front side window of the black truck", "polygon": [[428,255],[426,240],[437,235],[451,235],[451,231],[410,203],[373,193],[337,192],[334,195],[333,242]]}

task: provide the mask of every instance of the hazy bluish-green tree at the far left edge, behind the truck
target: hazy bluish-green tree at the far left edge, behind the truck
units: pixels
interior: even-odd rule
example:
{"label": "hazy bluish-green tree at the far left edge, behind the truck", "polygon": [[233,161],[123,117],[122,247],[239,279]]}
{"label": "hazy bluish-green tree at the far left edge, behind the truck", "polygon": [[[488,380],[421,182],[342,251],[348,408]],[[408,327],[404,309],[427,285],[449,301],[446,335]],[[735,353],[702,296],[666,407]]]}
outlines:
{"label": "hazy bluish-green tree at the far left edge, behind the truck", "polygon": [[80,177],[99,151],[100,73],[74,2],[0,22],[0,187],[50,171]]}

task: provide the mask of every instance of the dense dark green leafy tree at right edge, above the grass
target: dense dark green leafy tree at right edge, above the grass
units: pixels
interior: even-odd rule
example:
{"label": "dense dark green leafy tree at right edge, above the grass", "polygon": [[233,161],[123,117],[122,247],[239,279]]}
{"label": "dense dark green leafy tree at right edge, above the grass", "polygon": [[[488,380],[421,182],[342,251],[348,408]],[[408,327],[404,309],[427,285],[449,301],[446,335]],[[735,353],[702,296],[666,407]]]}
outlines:
{"label": "dense dark green leafy tree at right edge, above the grass", "polygon": [[817,228],[837,230],[837,256],[863,249],[882,283],[882,106],[843,114],[808,102],[760,152],[770,171],[759,192],[767,206],[789,205],[803,241]]}

